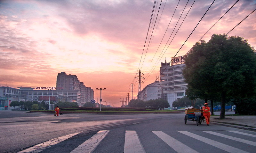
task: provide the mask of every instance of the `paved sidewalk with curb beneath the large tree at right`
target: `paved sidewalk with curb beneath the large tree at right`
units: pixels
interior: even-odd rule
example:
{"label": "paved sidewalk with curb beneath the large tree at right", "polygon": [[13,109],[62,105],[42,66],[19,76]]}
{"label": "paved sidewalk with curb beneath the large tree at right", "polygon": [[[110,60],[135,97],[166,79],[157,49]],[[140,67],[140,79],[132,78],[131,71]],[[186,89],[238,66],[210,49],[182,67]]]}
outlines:
{"label": "paved sidewalk with curb beneath the large tree at right", "polygon": [[223,126],[241,128],[256,131],[256,116],[225,116],[225,119],[219,119],[219,116],[212,116],[210,122]]}

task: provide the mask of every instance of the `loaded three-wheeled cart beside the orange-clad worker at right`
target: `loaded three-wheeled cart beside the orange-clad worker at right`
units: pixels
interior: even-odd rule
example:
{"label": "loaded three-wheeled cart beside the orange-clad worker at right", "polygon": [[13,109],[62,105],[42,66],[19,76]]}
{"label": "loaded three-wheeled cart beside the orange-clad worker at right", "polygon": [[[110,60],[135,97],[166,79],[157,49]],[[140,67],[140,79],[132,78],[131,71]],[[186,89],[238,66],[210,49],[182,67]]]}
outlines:
{"label": "loaded three-wheeled cart beside the orange-clad worker at right", "polygon": [[[188,107],[185,109],[185,124],[187,124],[187,120],[192,120],[196,122],[196,125],[202,124],[202,111],[200,109],[194,108],[194,107]],[[204,121],[204,120],[203,120]]]}

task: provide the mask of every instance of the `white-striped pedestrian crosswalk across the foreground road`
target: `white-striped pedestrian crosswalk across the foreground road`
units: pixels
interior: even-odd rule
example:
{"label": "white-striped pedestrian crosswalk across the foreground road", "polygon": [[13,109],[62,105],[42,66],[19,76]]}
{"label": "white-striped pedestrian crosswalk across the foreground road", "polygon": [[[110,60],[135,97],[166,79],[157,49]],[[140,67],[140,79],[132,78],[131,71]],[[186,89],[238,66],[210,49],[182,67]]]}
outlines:
{"label": "white-striped pedestrian crosswalk across the foreground road", "polygon": [[[94,150],[97,149],[97,147],[100,145],[100,143],[103,141],[108,141],[108,135],[109,130],[102,130],[87,139],[85,142],[80,144],[78,147],[76,147],[74,150],[72,150],[70,153],[93,153]],[[223,134],[225,133],[225,134]],[[54,146],[57,143],[61,143],[62,141],[65,141],[68,138],[71,138],[72,136],[77,135],[78,133],[58,137],[40,144],[37,144],[33,147],[30,147],[28,149],[19,151],[18,153],[39,153],[43,151],[44,149],[50,148]],[[113,133],[112,133],[113,134]],[[185,136],[183,140],[177,140],[177,135],[180,135],[182,137]],[[229,153],[250,153],[254,152],[256,150],[256,134],[252,133],[246,133],[246,132],[240,132],[235,130],[229,130],[229,131],[176,131],[175,135],[172,135],[170,133],[166,134],[163,131],[149,131],[148,135],[153,135],[155,138],[160,138],[163,143],[166,143],[168,146],[170,146],[170,149],[175,150],[177,153],[199,153],[202,152],[202,150],[197,150],[195,147],[191,148],[191,146],[188,145],[189,141],[198,141],[200,144],[207,144],[211,145],[213,148],[221,149],[222,152],[229,152]],[[236,135],[236,136],[230,136],[230,135]],[[234,142],[237,142],[240,146],[248,146],[246,149],[245,147],[239,147],[239,145],[229,145],[229,143],[224,144],[225,142],[219,142],[215,140],[212,140],[205,135],[208,136],[214,136],[219,139],[227,139],[232,140]],[[176,138],[175,138],[176,137]],[[240,138],[239,138],[240,137]],[[160,140],[159,139],[159,140]],[[248,140],[246,140],[248,139]],[[217,139],[218,140],[218,139]],[[145,142],[144,142],[145,143]],[[145,145],[147,146],[147,145]],[[253,149],[253,147],[255,149]],[[151,149],[154,147],[151,147]],[[147,150],[150,150],[142,144],[140,137],[137,133],[137,131],[131,131],[127,130],[125,131],[124,135],[124,144],[123,144],[124,153],[147,153]],[[152,150],[151,150],[152,152]],[[255,153],[255,152],[254,152]]]}

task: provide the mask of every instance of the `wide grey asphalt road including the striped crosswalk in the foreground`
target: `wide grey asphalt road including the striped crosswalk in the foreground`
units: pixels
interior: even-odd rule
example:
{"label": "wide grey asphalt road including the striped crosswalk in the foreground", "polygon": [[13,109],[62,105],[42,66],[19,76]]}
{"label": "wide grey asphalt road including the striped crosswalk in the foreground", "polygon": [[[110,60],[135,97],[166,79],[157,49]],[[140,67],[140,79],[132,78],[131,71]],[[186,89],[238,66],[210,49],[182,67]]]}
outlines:
{"label": "wide grey asphalt road including the striped crosswalk in the foreground", "polygon": [[[87,152],[94,149],[93,153],[184,153],[186,150],[191,153],[205,152],[205,149],[209,153],[255,152],[255,132],[205,123],[197,127],[193,121],[185,125],[184,116],[180,113],[54,117],[53,114],[0,111],[0,152],[33,150],[30,147],[42,142],[41,153],[83,152],[81,149]],[[52,141],[47,142],[49,140]]]}

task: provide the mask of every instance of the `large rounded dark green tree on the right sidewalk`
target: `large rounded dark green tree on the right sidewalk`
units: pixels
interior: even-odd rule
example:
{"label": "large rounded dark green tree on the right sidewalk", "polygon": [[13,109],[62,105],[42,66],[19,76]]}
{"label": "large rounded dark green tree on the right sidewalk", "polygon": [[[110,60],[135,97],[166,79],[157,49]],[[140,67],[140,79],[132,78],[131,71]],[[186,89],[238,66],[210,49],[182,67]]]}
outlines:
{"label": "large rounded dark green tree on the right sidewalk", "polygon": [[202,40],[190,49],[185,64],[188,96],[220,98],[220,118],[225,118],[228,99],[255,94],[255,50],[242,37],[213,34],[208,42]]}

